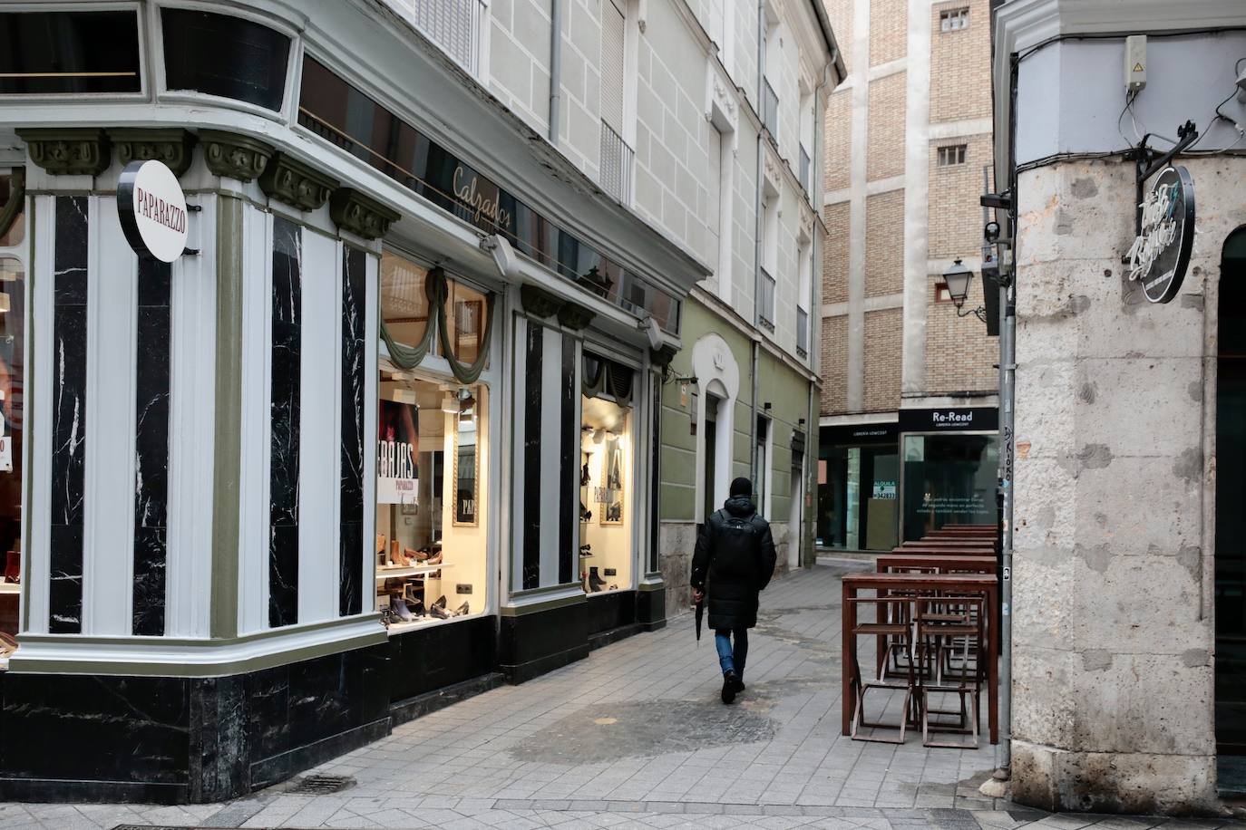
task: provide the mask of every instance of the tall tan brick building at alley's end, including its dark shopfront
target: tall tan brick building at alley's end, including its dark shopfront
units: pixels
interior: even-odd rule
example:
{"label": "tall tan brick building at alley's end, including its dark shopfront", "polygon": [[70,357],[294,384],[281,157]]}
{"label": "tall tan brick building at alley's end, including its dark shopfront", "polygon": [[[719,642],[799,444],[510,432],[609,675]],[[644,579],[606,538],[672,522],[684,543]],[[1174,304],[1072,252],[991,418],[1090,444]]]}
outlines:
{"label": "tall tan brick building at alley's end, including its dark shopfront", "polygon": [[[981,266],[991,2],[826,5],[852,72],[830,97],[824,142],[817,538],[825,548],[878,550],[949,520],[994,521],[988,468],[997,455],[986,436],[998,345],[941,289],[954,260]],[[974,279],[964,311],[982,305]],[[948,411],[976,411],[966,431],[974,436],[947,431],[928,442],[921,433]],[[953,459],[977,464],[972,480],[930,465],[946,472]],[[927,494],[942,504],[968,498],[957,503],[971,509],[931,510]]]}

